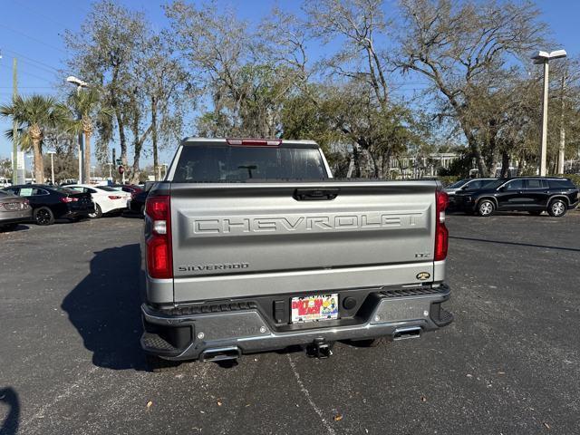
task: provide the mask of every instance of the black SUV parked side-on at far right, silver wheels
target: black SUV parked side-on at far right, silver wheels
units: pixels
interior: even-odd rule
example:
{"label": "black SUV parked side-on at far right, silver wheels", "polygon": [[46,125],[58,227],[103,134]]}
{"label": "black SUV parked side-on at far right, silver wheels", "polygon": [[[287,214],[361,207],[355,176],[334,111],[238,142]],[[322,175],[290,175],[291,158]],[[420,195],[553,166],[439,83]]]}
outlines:
{"label": "black SUV parked side-on at far right, silver wheels", "polygon": [[498,179],[481,189],[459,191],[455,198],[458,208],[479,216],[496,210],[519,210],[532,215],[547,211],[559,218],[578,205],[578,189],[569,179],[524,177]]}

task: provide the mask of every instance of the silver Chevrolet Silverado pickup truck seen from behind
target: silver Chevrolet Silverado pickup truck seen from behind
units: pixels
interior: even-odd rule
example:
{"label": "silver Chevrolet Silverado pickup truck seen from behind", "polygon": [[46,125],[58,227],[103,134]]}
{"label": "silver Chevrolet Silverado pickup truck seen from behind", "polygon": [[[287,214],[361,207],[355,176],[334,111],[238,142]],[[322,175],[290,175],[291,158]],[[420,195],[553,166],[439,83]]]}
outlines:
{"label": "silver Chevrolet Silverado pickup truck seen from behind", "polygon": [[144,351],[219,361],[449,324],[447,195],[333,179],[310,140],[183,140],[147,198]]}

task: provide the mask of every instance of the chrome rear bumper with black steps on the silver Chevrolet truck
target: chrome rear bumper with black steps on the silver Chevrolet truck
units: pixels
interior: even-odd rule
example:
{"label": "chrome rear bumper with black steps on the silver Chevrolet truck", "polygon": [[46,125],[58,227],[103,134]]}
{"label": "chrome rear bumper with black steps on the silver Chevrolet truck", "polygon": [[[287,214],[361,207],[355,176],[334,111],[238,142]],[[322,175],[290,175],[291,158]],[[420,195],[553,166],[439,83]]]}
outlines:
{"label": "chrome rear bumper with black steps on the silver Chevrolet truck", "polygon": [[143,304],[145,331],[140,343],[146,353],[178,361],[195,360],[218,348],[257,353],[321,340],[392,337],[406,328],[428,332],[452,322],[453,315],[441,307],[449,296],[447,285],[412,290],[390,288],[368,296],[368,309],[362,317],[286,325],[284,331],[269,322],[257,304],[215,304],[203,310],[206,313],[177,315]]}

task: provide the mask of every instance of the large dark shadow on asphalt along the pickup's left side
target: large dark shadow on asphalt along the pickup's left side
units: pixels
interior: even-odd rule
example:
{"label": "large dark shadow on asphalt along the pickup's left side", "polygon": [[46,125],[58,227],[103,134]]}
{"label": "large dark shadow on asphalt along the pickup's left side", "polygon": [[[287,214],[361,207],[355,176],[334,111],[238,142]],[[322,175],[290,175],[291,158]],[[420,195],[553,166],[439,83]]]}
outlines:
{"label": "large dark shadow on asphalt along the pickup's left side", "polygon": [[145,370],[139,342],[140,274],[139,244],[103,249],[95,252],[89,275],[63,300],[95,365]]}

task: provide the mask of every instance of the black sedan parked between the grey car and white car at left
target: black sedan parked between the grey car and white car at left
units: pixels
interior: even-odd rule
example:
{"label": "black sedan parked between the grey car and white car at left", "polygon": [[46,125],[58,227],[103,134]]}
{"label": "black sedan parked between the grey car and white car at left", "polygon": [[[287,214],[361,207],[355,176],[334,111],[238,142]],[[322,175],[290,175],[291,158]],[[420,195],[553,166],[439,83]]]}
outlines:
{"label": "black sedan parked between the grey car and white car at left", "polygon": [[21,184],[5,190],[29,200],[33,208],[33,220],[37,225],[51,225],[54,219],[59,218],[77,220],[94,213],[91,195],[73,189]]}

